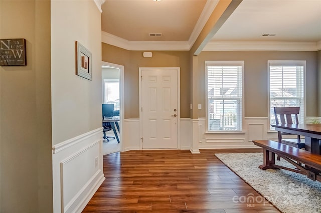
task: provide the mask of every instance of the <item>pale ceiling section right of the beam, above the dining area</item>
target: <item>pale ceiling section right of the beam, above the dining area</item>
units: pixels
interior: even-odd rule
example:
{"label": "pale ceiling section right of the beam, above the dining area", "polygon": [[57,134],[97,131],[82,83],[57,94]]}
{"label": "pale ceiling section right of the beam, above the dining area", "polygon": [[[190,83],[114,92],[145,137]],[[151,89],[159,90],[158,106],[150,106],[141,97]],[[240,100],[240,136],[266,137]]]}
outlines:
{"label": "pale ceiling section right of the beam, above the dining area", "polygon": [[[262,37],[263,34],[275,36]],[[212,41],[321,40],[321,0],[243,0]]]}

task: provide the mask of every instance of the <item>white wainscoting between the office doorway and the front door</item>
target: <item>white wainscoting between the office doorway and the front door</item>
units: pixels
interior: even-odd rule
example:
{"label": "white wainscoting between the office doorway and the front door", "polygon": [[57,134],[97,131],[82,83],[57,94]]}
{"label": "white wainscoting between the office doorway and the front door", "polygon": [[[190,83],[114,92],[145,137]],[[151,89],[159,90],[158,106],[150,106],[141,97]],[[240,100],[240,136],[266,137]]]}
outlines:
{"label": "white wainscoting between the office doorway and the front door", "polygon": [[141,139],[140,135],[140,124],[139,118],[124,119],[123,125],[123,138],[122,138],[122,150],[140,150],[141,149]]}

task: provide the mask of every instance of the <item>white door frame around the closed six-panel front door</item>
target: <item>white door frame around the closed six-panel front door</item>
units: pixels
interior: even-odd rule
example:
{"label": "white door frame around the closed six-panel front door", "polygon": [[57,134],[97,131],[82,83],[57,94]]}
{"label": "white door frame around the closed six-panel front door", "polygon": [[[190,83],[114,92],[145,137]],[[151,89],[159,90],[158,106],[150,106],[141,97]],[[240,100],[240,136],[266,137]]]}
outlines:
{"label": "white door frame around the closed six-panel front door", "polygon": [[180,68],[179,67],[139,67],[139,149],[142,150],[142,97],[141,97],[141,73],[143,70],[176,70],[177,71],[177,147],[181,149],[181,87],[180,87]]}

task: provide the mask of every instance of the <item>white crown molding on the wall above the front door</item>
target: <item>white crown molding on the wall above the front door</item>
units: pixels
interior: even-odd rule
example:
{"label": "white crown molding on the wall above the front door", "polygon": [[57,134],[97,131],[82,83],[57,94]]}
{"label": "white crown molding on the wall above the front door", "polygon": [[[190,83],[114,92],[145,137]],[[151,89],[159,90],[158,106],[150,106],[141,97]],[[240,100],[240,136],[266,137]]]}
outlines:
{"label": "white crown molding on the wall above the front door", "polygon": [[103,43],[110,44],[125,50],[153,50],[153,51],[189,51],[188,42],[139,42],[128,41],[112,34],[101,32]]}

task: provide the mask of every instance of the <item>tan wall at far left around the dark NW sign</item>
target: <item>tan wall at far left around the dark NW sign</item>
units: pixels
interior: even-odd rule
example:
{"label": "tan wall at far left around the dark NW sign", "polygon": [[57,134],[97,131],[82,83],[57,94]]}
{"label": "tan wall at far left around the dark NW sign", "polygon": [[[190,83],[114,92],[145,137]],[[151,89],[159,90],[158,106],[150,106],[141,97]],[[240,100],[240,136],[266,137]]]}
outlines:
{"label": "tan wall at far left around the dark NW sign", "polygon": [[0,1],[0,38],[27,41],[0,67],[0,212],[52,212],[50,1]]}

